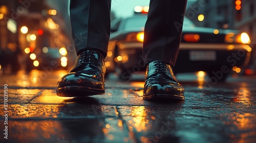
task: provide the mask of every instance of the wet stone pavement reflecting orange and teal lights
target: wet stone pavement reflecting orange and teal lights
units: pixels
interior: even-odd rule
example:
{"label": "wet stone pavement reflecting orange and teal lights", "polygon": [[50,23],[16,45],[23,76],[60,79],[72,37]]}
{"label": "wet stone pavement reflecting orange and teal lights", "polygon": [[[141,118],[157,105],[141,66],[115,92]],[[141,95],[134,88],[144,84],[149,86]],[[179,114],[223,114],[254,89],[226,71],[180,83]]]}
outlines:
{"label": "wet stone pavement reflecting orange and teal lights", "polygon": [[[57,97],[56,82],[66,72],[0,76],[0,142],[256,140],[256,76],[229,77],[227,83],[215,85],[177,76],[185,88],[185,101],[177,103],[142,100],[143,76],[129,83],[112,76],[101,95]],[[8,106],[4,106],[5,84]]]}

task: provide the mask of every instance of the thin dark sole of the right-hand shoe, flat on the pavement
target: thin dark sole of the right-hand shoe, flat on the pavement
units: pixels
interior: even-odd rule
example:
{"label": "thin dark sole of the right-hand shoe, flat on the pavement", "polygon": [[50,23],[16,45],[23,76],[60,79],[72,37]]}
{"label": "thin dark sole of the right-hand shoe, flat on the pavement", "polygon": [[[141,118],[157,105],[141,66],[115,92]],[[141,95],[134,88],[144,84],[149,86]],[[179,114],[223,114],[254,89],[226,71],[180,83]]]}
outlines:
{"label": "thin dark sole of the right-hand shoe, flat on the pavement", "polygon": [[174,94],[153,94],[151,96],[143,96],[143,100],[174,100],[174,101],[183,101],[185,100],[184,96],[178,96]]}

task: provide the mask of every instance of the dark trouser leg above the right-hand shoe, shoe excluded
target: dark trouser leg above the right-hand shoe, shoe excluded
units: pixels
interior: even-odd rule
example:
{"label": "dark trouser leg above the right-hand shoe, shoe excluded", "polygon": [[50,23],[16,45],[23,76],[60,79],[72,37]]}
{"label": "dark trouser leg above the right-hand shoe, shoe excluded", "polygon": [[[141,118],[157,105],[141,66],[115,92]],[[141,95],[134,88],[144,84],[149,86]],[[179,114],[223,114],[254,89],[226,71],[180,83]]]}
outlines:
{"label": "dark trouser leg above the right-hand shoe, shoe excluded", "polygon": [[143,57],[175,65],[181,40],[186,0],[151,0],[145,25]]}

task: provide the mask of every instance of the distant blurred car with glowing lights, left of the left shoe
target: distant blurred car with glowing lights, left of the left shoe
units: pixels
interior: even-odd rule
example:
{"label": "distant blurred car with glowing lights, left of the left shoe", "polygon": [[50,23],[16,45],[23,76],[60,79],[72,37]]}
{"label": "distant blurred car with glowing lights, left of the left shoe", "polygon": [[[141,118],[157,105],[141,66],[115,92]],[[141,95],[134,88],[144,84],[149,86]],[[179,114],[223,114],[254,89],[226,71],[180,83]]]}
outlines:
{"label": "distant blurred car with glowing lights, left of the left shoe", "polygon": [[67,69],[68,59],[66,57],[67,50],[65,47],[42,47],[42,49],[31,49],[27,47],[25,53],[27,58],[27,71],[31,69],[46,69],[50,66],[52,69]]}

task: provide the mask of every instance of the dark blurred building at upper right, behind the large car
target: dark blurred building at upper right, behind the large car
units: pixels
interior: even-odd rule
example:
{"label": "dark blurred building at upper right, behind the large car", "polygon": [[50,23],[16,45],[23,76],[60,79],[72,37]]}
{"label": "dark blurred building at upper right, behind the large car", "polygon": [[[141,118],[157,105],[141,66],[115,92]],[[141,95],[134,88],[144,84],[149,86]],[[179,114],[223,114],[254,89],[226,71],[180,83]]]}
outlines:
{"label": "dark blurred building at upper right, behind the large car", "polygon": [[187,6],[186,16],[196,26],[237,29],[256,41],[255,0],[198,0]]}

